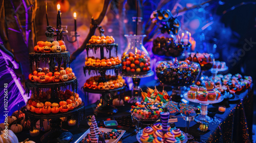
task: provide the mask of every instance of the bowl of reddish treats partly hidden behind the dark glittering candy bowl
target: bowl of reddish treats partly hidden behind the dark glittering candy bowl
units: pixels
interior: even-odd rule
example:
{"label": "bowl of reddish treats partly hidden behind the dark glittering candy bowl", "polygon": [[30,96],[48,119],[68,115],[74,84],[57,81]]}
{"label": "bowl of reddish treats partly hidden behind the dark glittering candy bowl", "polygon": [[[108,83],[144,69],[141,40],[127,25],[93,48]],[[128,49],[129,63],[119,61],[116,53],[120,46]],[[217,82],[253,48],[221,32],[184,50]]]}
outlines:
{"label": "bowl of reddish treats partly hidden behind the dark glittering candy bowl", "polygon": [[208,53],[190,53],[186,58],[191,62],[197,62],[201,66],[201,70],[209,70],[214,64],[214,56]]}

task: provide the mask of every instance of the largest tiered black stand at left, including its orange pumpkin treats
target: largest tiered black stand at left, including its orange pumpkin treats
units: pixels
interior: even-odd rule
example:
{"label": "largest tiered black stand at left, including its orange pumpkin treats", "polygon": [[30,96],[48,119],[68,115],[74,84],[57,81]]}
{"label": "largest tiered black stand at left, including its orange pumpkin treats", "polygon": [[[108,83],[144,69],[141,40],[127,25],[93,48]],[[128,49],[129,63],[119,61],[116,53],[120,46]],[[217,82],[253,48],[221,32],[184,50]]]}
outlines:
{"label": "largest tiered black stand at left, including its orange pumpkin treats", "polygon": [[[61,128],[60,117],[73,116],[78,120],[82,120],[84,107],[81,98],[77,94],[78,82],[73,73],[70,64],[70,54],[66,51],[66,46],[63,41],[53,41],[53,30],[51,26],[47,27],[46,35],[48,42],[39,41],[38,47],[50,48],[50,53],[30,53],[30,71],[29,79],[26,81],[26,93],[31,94],[25,109],[25,115],[31,122],[30,134],[32,136],[38,134],[35,127],[46,131],[46,127],[51,130],[41,136],[41,142],[51,141],[68,141],[73,138],[72,133]],[[55,46],[65,46],[65,52],[56,52],[53,50]],[[55,53],[56,52],[56,53]],[[49,67],[40,68],[42,64]],[[57,64],[57,66],[55,66]],[[60,65],[63,64],[63,67]],[[67,67],[68,65],[68,67]],[[34,69],[34,70],[33,70]],[[46,126],[45,126],[46,124]],[[49,128],[50,129],[50,128]],[[60,137],[61,134],[66,134],[66,138]],[[60,139],[61,138],[61,139]]]}

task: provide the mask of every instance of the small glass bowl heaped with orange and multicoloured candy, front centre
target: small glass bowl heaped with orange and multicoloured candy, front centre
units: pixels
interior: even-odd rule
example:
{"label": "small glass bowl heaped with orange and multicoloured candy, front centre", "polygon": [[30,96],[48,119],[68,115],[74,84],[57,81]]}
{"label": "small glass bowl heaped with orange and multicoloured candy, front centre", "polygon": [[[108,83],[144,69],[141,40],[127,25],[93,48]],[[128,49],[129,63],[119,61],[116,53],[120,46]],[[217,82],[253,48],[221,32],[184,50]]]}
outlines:
{"label": "small glass bowl heaped with orange and multicoloured candy, front centre", "polygon": [[162,104],[149,101],[137,102],[136,106],[132,106],[130,110],[136,131],[153,126],[159,120],[162,111]]}

